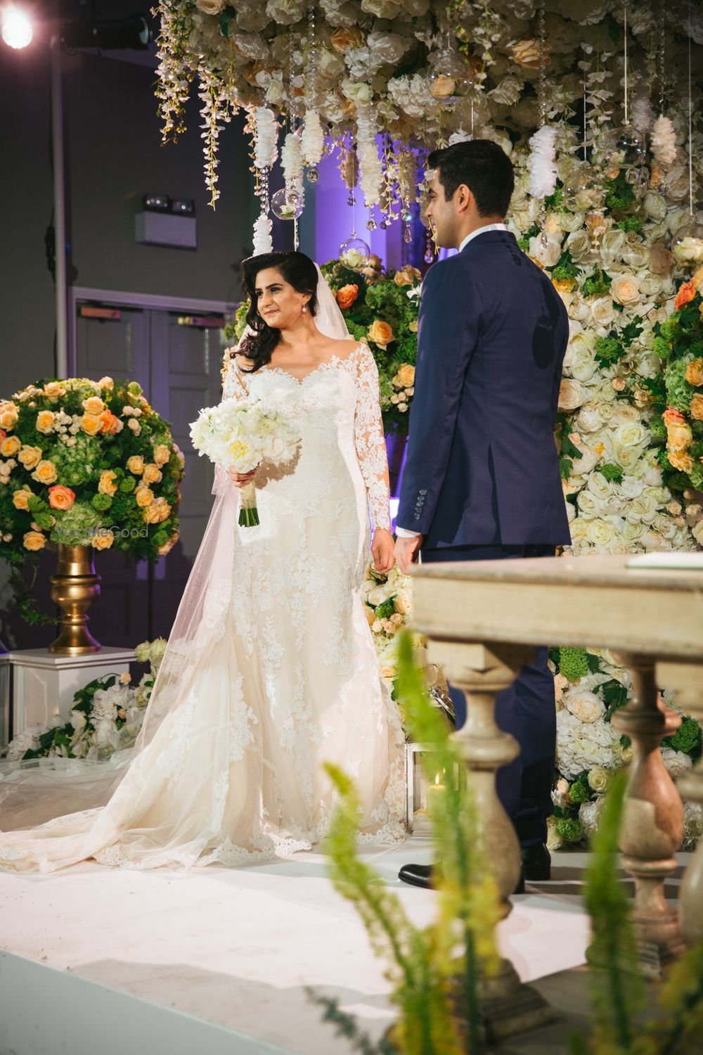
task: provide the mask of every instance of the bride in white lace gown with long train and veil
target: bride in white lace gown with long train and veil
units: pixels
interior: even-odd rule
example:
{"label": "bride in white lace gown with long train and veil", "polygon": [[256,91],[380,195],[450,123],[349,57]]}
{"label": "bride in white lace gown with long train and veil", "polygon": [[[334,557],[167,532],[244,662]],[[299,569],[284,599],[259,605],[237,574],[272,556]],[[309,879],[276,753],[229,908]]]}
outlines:
{"label": "bride in white lace gown with long train and veil", "polygon": [[403,734],[359,593],[369,515],[374,565],[393,563],[375,363],[304,253],[250,257],[243,282],[248,335],[223,398],[290,416],[297,456],[256,472],[256,528],[237,523],[250,475],[216,468],[134,749],[5,764],[2,867],[238,865],[310,848],[334,807],[328,761],[357,784],[363,838],[403,838]]}

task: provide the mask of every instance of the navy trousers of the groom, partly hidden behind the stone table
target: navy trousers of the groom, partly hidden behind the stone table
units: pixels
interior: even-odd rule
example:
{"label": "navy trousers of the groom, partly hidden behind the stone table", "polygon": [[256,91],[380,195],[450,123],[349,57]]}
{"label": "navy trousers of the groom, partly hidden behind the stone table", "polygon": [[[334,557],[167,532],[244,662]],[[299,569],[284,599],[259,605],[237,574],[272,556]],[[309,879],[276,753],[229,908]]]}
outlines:
{"label": "navy trousers of the groom, partly hidden behind the stone table", "polygon": [[[423,549],[423,563],[454,560],[506,560],[553,557],[553,545],[465,545]],[[466,696],[450,686],[456,728],[466,722]],[[523,667],[509,689],[495,699],[496,722],[520,744],[520,756],[499,769],[495,786],[503,808],[512,820],[521,846],[547,841],[547,818],[552,811],[551,786],[556,748],[554,679],[547,667],[547,649],[535,649],[534,663]]]}

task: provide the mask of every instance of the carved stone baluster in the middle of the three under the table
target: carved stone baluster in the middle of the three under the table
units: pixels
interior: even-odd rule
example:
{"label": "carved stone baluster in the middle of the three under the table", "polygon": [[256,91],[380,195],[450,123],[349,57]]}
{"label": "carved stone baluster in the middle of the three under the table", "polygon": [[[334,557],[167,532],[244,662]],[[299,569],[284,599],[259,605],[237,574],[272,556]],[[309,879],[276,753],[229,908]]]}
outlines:
{"label": "carved stone baluster in the middle of the three under the table", "polygon": [[612,718],[632,741],[625,813],[620,835],[623,867],[634,878],[636,928],[640,962],[650,978],[683,950],[676,910],[667,905],[664,883],[677,869],[683,835],[683,804],[662,761],[659,746],[681,725],[663,706],[655,679],[655,657],[620,653],[632,674],[632,698]]}

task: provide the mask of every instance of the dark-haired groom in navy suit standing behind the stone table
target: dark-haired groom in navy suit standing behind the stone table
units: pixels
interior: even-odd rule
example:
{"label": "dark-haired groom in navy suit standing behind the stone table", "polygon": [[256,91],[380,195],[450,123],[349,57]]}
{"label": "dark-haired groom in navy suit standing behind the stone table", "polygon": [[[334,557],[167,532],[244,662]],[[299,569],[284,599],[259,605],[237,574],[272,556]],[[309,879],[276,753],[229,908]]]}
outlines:
{"label": "dark-haired groom in navy suit standing behind the stone table", "polygon": [[[397,563],[405,572],[418,554],[423,563],[553,556],[570,542],[553,439],[566,309],[503,223],[514,177],[501,147],[457,142],[430,154],[428,168],[427,217],[440,246],[458,253],[423,283]],[[455,689],[452,698],[461,727],[466,699]],[[555,708],[546,649],[499,693],[496,714],[521,748],[496,780],[521,842],[521,882],[549,879]],[[399,875],[428,886],[431,866]]]}

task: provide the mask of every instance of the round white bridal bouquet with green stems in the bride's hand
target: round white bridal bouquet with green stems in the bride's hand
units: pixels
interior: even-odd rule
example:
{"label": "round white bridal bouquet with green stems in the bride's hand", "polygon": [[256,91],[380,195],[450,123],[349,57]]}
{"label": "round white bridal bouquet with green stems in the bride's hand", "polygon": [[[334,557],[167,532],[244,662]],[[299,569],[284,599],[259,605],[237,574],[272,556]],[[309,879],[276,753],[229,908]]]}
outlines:
{"label": "round white bridal bouquet with green stems in the bride's hand", "polygon": [[[216,465],[235,473],[251,473],[262,462],[284,465],[295,456],[300,437],[290,422],[277,414],[252,403],[224,400],[207,406],[191,424],[193,446]],[[255,528],[259,523],[254,482],[241,488],[239,524]]]}

